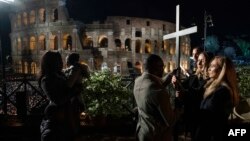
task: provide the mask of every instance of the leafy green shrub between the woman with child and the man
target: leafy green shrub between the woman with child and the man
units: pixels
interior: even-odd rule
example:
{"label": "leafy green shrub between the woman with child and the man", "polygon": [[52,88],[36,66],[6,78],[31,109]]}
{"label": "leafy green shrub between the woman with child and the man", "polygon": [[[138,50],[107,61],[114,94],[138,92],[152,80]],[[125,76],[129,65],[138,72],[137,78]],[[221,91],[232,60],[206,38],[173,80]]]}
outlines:
{"label": "leafy green shrub between the woman with child and the man", "polygon": [[125,106],[132,109],[133,94],[125,88],[119,74],[109,70],[93,72],[89,79],[83,81],[82,98],[90,116],[121,117],[129,114]]}

